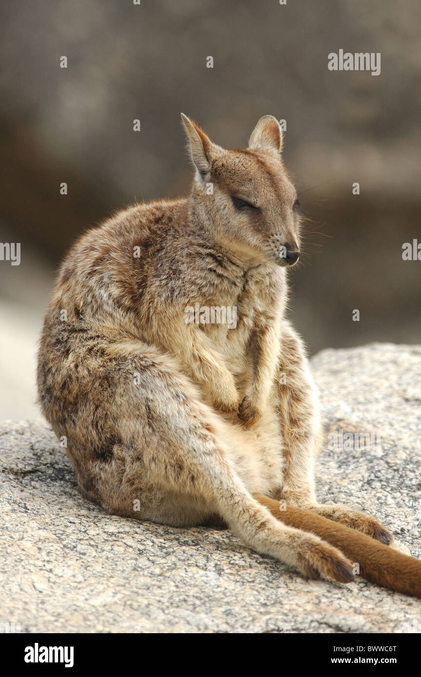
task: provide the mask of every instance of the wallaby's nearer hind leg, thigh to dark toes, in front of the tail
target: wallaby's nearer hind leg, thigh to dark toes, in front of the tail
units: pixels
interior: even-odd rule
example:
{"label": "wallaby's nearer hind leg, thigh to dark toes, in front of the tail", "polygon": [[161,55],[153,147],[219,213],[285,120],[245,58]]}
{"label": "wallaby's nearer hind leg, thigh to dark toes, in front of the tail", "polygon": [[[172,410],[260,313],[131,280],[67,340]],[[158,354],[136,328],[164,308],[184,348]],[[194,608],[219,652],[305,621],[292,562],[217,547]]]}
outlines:
{"label": "wallaby's nearer hind leg, thigh to dark toes, in front of the tail", "polygon": [[[171,361],[150,355],[142,360],[139,351],[127,358],[139,378],[133,385],[127,374],[113,372],[112,390],[120,401],[114,431],[118,443],[108,458],[95,461],[89,478],[107,510],[181,524],[183,511],[190,521],[200,506],[198,523],[206,512],[217,513],[248,546],[306,576],[352,580],[351,563],[339,550],[279,523],[252,498],[229,462],[229,445],[237,439],[230,439],[230,424],[200,402],[190,380]],[[107,403],[106,389],[103,397]]]}

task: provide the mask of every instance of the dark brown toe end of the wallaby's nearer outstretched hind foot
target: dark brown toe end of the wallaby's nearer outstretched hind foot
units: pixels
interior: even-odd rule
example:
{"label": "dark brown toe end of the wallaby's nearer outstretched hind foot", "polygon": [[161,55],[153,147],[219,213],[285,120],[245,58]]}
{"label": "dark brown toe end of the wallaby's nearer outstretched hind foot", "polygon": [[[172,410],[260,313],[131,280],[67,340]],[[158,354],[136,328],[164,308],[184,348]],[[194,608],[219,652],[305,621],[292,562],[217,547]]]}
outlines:
{"label": "dark brown toe end of the wallaby's nearer outstretched hind foot", "polygon": [[340,550],[312,537],[296,554],[296,568],[307,578],[324,578],[338,583],[354,580],[353,565]]}

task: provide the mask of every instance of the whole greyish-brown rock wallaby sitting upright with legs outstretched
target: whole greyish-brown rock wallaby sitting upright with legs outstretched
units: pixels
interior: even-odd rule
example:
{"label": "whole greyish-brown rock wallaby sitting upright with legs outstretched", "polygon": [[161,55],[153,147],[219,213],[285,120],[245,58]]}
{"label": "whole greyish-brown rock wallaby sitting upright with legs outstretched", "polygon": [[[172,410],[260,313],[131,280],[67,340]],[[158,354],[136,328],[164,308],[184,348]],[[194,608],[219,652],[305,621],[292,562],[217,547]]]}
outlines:
{"label": "whole greyish-brown rock wallaby sitting upright with legs outstretched", "polygon": [[244,150],[182,122],[190,195],[85,233],[45,317],[39,401],[83,496],[116,515],[227,525],[308,577],[350,582],[358,563],[421,595],[421,562],[376,519],[315,498],[315,387],[284,317],[300,216],[278,121],[261,118]]}

